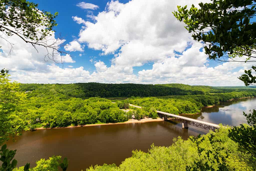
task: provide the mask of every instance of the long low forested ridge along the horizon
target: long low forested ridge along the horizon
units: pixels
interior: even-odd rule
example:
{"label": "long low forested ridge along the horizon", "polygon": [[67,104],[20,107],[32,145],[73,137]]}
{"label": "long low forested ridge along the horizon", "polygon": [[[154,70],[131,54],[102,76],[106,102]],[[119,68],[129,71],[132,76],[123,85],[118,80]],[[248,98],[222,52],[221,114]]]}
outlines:
{"label": "long low forested ridge along the horizon", "polygon": [[[202,95],[209,93],[224,93],[244,91],[243,88],[223,88],[210,86],[190,86],[185,84],[102,84],[102,83],[75,83],[75,84],[21,84],[22,91],[33,91],[40,95],[45,92],[58,92],[69,97],[149,97],[172,95]],[[247,89],[247,91],[254,91]],[[256,90],[256,89],[255,89]]]}

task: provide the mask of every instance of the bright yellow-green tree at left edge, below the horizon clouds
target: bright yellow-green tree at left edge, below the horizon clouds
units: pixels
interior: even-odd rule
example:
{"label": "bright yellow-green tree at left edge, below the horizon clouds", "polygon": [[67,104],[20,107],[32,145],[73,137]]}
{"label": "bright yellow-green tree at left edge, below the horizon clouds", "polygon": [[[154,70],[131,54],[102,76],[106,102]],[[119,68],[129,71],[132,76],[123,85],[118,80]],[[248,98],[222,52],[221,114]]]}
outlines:
{"label": "bright yellow-green tree at left edge, below the horizon clouds", "polygon": [[18,88],[17,82],[10,82],[8,70],[2,70],[0,74],[0,145],[8,140],[8,136],[18,135],[23,130],[24,121],[11,113],[25,98],[25,94],[19,92]]}

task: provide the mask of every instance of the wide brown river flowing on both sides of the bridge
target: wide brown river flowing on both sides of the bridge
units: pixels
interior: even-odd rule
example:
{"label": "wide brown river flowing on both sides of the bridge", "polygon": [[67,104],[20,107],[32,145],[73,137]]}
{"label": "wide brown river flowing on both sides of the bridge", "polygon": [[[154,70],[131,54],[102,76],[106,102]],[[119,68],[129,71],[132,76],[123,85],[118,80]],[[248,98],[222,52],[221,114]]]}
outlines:
{"label": "wide brown river flowing on both sides of the bridge", "polygon": [[[239,125],[246,122],[242,111],[256,108],[256,98],[246,98],[221,103],[212,108],[203,108],[198,115],[186,115],[212,123]],[[148,152],[150,145],[169,146],[173,138],[205,134],[207,130],[189,125],[182,129],[181,123],[172,121],[98,125],[88,127],[41,129],[24,132],[16,142],[9,140],[7,147],[17,149],[17,166],[36,160],[61,155],[69,159],[68,170],[86,170],[91,165],[104,163],[117,165],[132,155],[132,150]]]}

